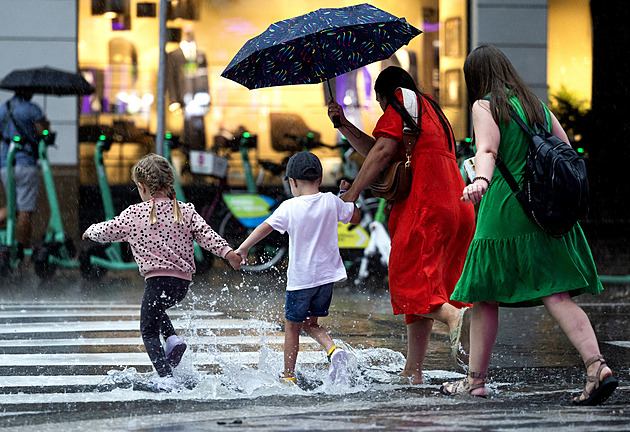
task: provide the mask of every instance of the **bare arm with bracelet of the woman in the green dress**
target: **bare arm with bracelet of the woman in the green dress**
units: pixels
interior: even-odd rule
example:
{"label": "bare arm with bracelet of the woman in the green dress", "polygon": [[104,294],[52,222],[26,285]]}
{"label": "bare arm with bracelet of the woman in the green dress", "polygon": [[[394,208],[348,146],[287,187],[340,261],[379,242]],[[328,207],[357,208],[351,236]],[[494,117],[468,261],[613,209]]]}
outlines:
{"label": "bare arm with bracelet of the woman in the green dress", "polygon": [[[477,204],[488,190],[501,143],[499,126],[490,113],[490,102],[478,100],[473,104],[473,129],[475,131],[475,181],[464,188],[462,201]],[[485,179],[485,180],[484,180]]]}

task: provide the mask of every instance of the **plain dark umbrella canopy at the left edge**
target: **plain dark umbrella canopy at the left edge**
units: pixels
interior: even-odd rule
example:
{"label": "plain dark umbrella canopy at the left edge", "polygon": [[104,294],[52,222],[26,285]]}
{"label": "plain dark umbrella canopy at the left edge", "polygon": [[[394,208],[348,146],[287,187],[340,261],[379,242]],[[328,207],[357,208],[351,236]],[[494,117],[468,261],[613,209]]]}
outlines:
{"label": "plain dark umbrella canopy at the left edge", "polygon": [[50,67],[14,70],[0,81],[0,88],[57,96],[94,93],[94,87],[81,74]]}

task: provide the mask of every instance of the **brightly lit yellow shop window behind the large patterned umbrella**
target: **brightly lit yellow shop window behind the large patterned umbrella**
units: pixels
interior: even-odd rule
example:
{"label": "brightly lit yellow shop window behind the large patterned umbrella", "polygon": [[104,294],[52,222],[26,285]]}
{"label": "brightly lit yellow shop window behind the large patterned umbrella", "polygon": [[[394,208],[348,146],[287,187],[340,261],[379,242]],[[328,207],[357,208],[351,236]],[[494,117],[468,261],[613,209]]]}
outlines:
{"label": "brightly lit yellow shop window behind the large patterned umbrella", "polygon": [[[345,105],[348,117],[371,132],[381,115],[374,80],[391,64],[408,70],[424,92],[446,102],[449,117],[459,115],[460,107],[465,109],[462,77],[445,71],[461,68],[463,63],[466,2],[381,0],[371,4],[404,17],[424,33],[389,60],[332,80],[332,91]],[[445,6],[452,4],[456,6]],[[271,23],[323,6],[328,5],[306,0],[169,2],[165,128],[180,137],[183,149],[211,150],[216,136],[244,128],[257,135],[254,159],[280,162],[290,154],[280,142],[286,128],[315,132],[330,145],[339,140],[326,115],[328,90],[323,84],[247,90],[220,76],[243,44]],[[158,0],[79,0],[79,65],[97,88],[81,105],[82,183],[96,182],[90,166],[94,166],[91,158],[101,130],[119,136],[107,155],[117,167],[108,168],[111,182],[129,182],[128,168],[139,155],[154,150],[158,12]],[[315,152],[325,161],[325,169],[339,169],[336,151]],[[233,166],[230,181],[242,183],[238,164]]]}

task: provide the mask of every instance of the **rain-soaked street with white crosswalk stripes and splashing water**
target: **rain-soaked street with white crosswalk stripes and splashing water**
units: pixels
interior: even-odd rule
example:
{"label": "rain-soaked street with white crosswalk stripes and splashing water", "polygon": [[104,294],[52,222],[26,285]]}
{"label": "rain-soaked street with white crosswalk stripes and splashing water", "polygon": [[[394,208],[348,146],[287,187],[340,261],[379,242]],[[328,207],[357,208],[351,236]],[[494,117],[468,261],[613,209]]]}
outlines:
{"label": "rain-soaked street with white crosswalk stripes and splashing water", "polygon": [[72,271],[40,281],[26,271],[0,285],[0,427],[38,431],[630,430],[630,286],[577,301],[620,387],[600,407],[574,407],[581,360],[544,308],[501,309],[487,400],[449,398],[463,376],[448,329],[434,326],[425,384],[398,376],[404,319],[387,285],[339,285],[321,322],[352,354],[350,385],[326,381],[325,353],[301,337],[297,387],[282,368],[284,273],[237,273],[217,263],[171,314],[191,349],[176,393],[138,385],[150,375],[139,327],[136,272],[87,282]]}

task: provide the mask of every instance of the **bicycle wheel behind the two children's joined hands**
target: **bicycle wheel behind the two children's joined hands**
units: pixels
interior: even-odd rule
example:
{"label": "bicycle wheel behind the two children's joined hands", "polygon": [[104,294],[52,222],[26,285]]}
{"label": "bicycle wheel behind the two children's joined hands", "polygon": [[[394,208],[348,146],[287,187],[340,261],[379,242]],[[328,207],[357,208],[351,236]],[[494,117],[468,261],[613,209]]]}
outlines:
{"label": "bicycle wheel behind the two children's joined hands", "polygon": [[[233,247],[238,247],[238,245],[243,243],[252,231],[252,229],[248,229],[240,223],[230,212],[225,214],[219,225],[219,235]],[[286,234],[282,235],[277,231],[272,232],[250,249],[250,259],[252,257],[255,258],[255,263],[252,265],[246,264],[241,269],[250,272],[261,272],[275,267],[280,264],[286,255],[289,249],[288,245],[289,241]]]}

